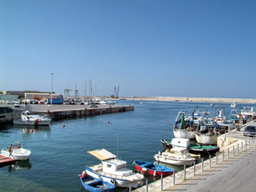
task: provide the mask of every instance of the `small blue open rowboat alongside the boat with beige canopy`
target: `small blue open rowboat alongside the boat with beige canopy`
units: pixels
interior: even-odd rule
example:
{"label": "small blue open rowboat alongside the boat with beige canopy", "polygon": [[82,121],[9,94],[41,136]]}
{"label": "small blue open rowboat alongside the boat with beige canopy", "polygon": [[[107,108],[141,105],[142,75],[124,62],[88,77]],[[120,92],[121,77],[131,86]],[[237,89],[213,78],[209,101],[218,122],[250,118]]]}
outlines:
{"label": "small blue open rowboat alongside the boat with beige canopy", "polygon": [[83,184],[84,189],[86,189],[87,191],[112,192],[116,188],[115,185],[110,184],[109,182],[86,175],[85,171],[83,171],[80,180]]}

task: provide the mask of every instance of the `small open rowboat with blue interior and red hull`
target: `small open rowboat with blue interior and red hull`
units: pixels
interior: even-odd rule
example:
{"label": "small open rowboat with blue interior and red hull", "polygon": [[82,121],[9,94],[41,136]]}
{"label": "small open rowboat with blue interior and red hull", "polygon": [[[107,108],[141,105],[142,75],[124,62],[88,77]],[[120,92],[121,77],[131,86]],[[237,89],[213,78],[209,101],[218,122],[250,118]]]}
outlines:
{"label": "small open rowboat with blue interior and red hull", "polygon": [[160,176],[163,174],[163,177],[166,177],[172,175],[175,171],[172,168],[161,166],[159,164],[148,163],[146,161],[134,161],[133,164],[137,170],[154,176]]}

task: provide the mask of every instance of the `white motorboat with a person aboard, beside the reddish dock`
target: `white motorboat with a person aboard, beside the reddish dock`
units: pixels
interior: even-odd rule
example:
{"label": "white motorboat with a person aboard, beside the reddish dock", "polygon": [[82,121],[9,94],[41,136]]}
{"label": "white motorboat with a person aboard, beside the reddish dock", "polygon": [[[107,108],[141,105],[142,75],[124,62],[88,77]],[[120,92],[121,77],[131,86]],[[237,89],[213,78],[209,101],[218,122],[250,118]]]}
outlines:
{"label": "white motorboat with a person aboard, beside the reddish dock", "polygon": [[[6,149],[2,149],[0,152],[1,156],[9,157],[10,152],[8,147]],[[31,156],[31,151],[29,149],[21,148],[20,143],[13,144],[13,152],[10,156],[11,159],[24,161],[27,160]]]}

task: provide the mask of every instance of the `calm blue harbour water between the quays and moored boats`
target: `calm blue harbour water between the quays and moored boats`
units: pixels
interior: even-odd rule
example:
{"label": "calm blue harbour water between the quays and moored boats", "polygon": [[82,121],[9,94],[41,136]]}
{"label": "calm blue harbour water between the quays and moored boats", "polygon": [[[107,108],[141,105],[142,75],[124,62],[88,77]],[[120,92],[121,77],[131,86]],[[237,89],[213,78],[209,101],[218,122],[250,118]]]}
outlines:
{"label": "calm blue harbour water between the quays and moored boats", "polygon": [[[86,164],[100,163],[88,151],[105,148],[134,169],[134,160],[154,163],[154,154],[163,150],[160,140],[174,137],[170,122],[179,111],[191,115],[198,105],[214,116],[221,105],[228,116],[232,109],[225,103],[211,107],[207,102],[118,101],[128,104],[134,111],[52,121],[49,127],[0,127],[0,148],[19,141],[32,152],[28,161],[0,168],[0,191],[84,191],[78,175]],[[238,104],[237,111],[244,106],[255,108]]]}

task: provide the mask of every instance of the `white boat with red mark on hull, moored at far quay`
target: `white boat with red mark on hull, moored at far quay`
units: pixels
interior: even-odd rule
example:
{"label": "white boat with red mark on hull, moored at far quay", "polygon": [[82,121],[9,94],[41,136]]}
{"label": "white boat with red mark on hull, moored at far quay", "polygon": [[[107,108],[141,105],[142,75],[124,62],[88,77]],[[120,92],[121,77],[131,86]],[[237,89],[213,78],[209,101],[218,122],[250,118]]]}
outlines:
{"label": "white boat with red mark on hull, moored at far quay", "polygon": [[20,119],[13,120],[13,124],[17,125],[49,125],[51,123],[51,118],[33,115],[31,111],[23,111],[21,113]]}

